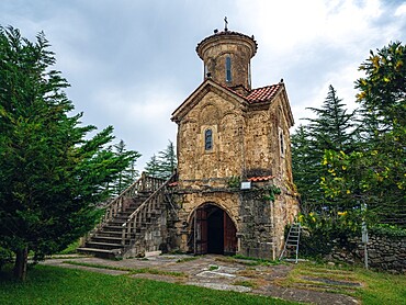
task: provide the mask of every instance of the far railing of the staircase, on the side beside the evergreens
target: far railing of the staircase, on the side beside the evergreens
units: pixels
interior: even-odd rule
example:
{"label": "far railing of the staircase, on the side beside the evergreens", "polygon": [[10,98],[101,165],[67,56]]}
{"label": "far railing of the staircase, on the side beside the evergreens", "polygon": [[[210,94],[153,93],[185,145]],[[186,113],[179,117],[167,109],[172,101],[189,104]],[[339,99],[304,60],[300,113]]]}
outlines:
{"label": "far railing of the staircase, on the side beside the evergreens", "polygon": [[131,184],[105,206],[104,216],[98,223],[97,229],[112,221],[119,213],[124,212],[137,193],[155,192],[165,183],[165,179],[150,177],[143,172],[137,181]]}

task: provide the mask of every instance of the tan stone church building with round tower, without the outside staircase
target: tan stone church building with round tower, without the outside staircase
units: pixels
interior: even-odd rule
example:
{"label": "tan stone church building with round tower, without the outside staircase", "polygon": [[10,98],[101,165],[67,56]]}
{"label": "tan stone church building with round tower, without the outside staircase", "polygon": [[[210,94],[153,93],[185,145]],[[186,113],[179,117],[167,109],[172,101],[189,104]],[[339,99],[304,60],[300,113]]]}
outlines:
{"label": "tan stone church building with round tower, without the outside staircase", "polygon": [[[218,241],[224,249],[275,259],[284,226],[298,211],[285,86],[281,81],[251,89],[253,37],[224,31],[203,39],[196,50],[204,61],[204,81],[172,114],[178,124],[178,213],[171,247],[196,252],[199,239],[208,245],[201,251],[210,252],[214,226],[224,235]],[[274,201],[272,188],[280,190]],[[214,221],[218,211],[224,216]]]}

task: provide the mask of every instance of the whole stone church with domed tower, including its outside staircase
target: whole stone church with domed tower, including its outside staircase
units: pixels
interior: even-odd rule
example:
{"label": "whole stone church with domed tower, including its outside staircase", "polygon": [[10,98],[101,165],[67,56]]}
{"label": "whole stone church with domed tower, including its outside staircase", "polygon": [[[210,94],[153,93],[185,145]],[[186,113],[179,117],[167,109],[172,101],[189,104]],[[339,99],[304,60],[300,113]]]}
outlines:
{"label": "whole stone church with domed tower, including its outside staircase", "polygon": [[106,210],[79,249],[114,257],[156,250],[278,258],[297,211],[293,116],[283,80],[251,88],[253,36],[229,31],[198,44],[203,82],[172,113],[178,170],[143,176]]}

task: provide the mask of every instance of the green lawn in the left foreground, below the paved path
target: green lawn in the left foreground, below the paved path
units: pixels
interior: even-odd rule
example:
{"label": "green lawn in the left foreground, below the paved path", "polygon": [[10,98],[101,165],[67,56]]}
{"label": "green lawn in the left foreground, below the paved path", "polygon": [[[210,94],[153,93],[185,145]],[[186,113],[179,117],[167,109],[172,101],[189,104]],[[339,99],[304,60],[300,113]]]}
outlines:
{"label": "green lawn in the left foreground, below the paved path", "polygon": [[0,273],[0,304],[297,304],[264,296],[36,266],[19,283]]}

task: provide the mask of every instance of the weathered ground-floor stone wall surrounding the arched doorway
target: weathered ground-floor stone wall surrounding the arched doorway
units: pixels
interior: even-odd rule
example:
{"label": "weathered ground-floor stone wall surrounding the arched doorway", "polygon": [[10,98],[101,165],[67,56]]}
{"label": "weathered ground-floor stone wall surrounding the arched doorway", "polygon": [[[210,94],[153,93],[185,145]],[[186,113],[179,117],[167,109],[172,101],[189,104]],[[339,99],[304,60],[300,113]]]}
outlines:
{"label": "weathered ground-floor stone wall surrounding the arched doorway", "polygon": [[298,205],[295,196],[283,187],[274,202],[267,199],[267,188],[275,182],[252,182],[250,190],[194,190],[193,184],[188,189],[177,189],[173,193],[177,221],[169,226],[169,248],[192,251],[190,240],[193,239],[191,234],[194,211],[204,204],[212,204],[225,211],[235,224],[238,255],[277,259],[283,246],[284,227],[293,222]]}

